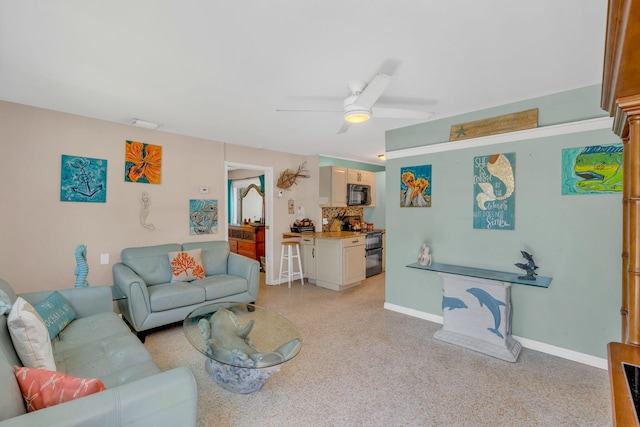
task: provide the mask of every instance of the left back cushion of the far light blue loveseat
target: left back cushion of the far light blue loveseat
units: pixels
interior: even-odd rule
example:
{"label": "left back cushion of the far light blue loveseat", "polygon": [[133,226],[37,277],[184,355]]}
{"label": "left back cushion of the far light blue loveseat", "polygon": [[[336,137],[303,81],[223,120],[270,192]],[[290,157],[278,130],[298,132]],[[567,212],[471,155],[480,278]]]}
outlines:
{"label": "left back cushion of the far light blue loveseat", "polygon": [[127,248],[120,252],[122,263],[135,271],[147,286],[171,281],[169,252],[181,251],[182,246],[170,243],[158,246]]}

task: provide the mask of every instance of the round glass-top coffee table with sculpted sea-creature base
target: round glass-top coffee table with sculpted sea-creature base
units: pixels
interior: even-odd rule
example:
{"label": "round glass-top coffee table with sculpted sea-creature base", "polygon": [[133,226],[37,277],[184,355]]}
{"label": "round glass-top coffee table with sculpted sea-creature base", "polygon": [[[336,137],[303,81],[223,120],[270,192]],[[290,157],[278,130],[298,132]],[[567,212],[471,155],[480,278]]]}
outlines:
{"label": "round glass-top coffee table with sculpted sea-creature base", "polygon": [[199,307],[184,319],[183,329],[187,340],[207,356],[209,375],[235,393],[258,390],[302,346],[298,330],[289,320],[253,304],[227,302]]}

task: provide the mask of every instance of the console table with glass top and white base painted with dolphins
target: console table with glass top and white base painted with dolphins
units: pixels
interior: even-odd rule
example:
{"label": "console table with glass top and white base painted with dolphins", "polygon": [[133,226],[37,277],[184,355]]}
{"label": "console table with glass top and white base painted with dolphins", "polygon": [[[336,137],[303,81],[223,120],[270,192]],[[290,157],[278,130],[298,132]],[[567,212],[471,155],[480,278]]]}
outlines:
{"label": "console table with glass top and white base painted with dolphins", "polygon": [[549,287],[550,277],[519,279],[516,273],[451,264],[407,265],[442,277],[442,329],[436,339],[508,362],[518,360],[522,344],[511,336],[511,284]]}

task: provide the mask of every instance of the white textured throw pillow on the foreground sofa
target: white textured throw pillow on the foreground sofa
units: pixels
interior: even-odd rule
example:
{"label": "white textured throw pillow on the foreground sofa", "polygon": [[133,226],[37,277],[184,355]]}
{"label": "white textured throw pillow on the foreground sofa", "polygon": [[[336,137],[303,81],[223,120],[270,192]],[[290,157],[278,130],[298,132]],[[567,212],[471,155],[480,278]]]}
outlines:
{"label": "white textured throw pillow on the foreground sofa", "polygon": [[31,304],[18,297],[7,317],[7,325],[13,346],[24,366],[56,370],[49,332]]}

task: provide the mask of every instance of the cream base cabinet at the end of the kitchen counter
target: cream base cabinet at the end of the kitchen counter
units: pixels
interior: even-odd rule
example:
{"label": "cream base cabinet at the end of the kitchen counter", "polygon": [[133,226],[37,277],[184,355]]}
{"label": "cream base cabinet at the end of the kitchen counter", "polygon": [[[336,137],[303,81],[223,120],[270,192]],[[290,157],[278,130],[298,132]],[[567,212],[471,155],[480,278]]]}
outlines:
{"label": "cream base cabinet at the end of the kitchen counter", "polygon": [[316,239],[316,286],[341,291],[366,277],[365,236]]}

